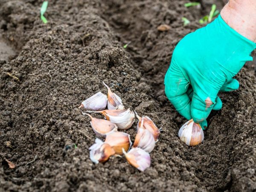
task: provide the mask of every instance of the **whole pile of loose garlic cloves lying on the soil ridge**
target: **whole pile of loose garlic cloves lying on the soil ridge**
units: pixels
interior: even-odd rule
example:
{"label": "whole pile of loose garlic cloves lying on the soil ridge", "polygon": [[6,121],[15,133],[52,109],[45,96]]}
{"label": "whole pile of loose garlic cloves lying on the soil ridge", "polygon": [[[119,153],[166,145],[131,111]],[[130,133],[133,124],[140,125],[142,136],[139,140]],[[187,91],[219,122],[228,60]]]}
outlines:
{"label": "whole pile of loose garlic cloves lying on the soil ridge", "polygon": [[[132,146],[130,135],[118,130],[127,130],[134,123],[135,115],[130,109],[125,110],[122,99],[108,88],[108,97],[98,92],[82,102],[79,108],[86,108],[90,117],[91,127],[95,134],[104,137],[103,142],[96,138],[95,143],[89,148],[90,160],[93,163],[103,163],[113,155],[125,154],[125,158],[132,166],[144,171],[150,166],[149,153],[158,141],[160,129],[148,117],[140,117],[137,124],[137,135]],[[108,106],[108,109],[105,109]],[[102,113],[105,119],[97,119],[88,113]]]}

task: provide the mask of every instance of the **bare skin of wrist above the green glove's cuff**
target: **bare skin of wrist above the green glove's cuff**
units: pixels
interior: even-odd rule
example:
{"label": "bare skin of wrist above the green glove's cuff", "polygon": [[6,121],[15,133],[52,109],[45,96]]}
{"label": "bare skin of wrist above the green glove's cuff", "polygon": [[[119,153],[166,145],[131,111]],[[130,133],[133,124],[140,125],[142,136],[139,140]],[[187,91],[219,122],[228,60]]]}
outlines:
{"label": "bare skin of wrist above the green glove's cuff", "polygon": [[236,32],[256,42],[256,0],[230,0],[221,17]]}

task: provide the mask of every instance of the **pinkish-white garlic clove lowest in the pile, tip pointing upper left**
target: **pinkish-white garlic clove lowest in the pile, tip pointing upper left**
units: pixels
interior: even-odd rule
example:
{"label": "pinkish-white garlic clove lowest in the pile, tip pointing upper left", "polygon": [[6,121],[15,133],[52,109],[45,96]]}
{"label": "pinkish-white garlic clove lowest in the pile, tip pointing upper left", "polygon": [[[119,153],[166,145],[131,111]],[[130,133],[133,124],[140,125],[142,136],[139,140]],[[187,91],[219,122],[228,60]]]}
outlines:
{"label": "pinkish-white garlic clove lowest in the pile, tip pointing upper left", "polygon": [[123,153],[125,154],[126,160],[128,163],[130,163],[132,166],[139,169],[141,172],[144,172],[145,169],[150,167],[150,155],[148,152],[144,151],[141,148],[132,148],[127,153],[125,150],[123,150]]}

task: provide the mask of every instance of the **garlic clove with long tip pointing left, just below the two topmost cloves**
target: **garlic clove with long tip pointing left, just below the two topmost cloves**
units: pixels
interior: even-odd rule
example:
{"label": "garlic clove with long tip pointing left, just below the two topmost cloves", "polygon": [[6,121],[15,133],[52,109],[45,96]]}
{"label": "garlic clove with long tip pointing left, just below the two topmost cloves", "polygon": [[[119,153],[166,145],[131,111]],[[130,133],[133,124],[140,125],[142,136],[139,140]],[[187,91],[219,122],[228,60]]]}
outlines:
{"label": "garlic clove with long tip pointing left, just below the two topmost cloves", "polygon": [[134,123],[134,112],[128,110],[103,110],[103,111],[87,111],[89,113],[102,113],[105,118],[115,123],[120,130],[125,130],[131,127]]}

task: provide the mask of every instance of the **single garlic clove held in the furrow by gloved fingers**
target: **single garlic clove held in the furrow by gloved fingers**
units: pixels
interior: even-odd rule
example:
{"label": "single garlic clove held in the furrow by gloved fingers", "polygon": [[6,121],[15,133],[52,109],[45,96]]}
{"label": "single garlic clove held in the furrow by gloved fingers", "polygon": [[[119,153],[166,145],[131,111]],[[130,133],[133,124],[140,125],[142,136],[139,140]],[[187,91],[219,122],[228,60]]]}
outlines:
{"label": "single garlic clove held in the furrow by gloved fingers", "polygon": [[198,123],[193,119],[186,122],[179,130],[178,136],[180,140],[188,146],[195,146],[203,142],[204,131]]}

